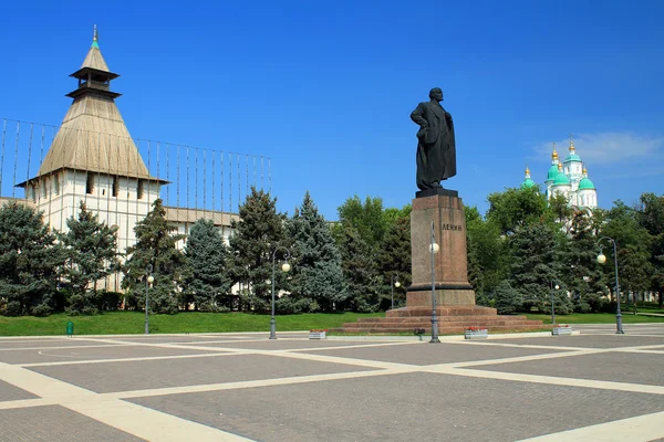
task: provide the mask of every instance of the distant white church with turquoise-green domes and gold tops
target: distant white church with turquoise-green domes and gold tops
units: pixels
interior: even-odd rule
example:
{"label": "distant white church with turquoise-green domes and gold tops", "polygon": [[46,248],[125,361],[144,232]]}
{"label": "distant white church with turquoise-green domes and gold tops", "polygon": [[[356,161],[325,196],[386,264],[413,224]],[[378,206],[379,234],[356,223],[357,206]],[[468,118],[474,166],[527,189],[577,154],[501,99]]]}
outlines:
{"label": "distant white church with turquoise-green domes and gold tops", "polygon": [[[547,199],[556,194],[564,196],[571,207],[592,211],[598,207],[598,191],[588,178],[588,169],[574,148],[574,140],[570,137],[569,154],[561,162],[553,144],[551,167],[544,181],[547,185]],[[526,167],[526,177],[521,188],[530,188],[535,181],[530,178],[530,169]]]}

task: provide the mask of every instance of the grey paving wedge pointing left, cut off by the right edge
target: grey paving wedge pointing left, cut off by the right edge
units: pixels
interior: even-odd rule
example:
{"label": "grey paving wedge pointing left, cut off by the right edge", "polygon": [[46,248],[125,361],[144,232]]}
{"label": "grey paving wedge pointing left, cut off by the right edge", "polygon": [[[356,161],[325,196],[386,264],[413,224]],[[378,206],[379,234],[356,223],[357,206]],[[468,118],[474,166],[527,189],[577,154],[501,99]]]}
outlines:
{"label": "grey paving wedge pointing left, cut off by the right edge", "polygon": [[[660,367],[658,369],[653,369]],[[603,352],[569,356],[563,359],[492,364],[468,367],[476,370],[592,379],[612,382],[664,386],[664,355]],[[657,399],[664,406],[664,400]]]}

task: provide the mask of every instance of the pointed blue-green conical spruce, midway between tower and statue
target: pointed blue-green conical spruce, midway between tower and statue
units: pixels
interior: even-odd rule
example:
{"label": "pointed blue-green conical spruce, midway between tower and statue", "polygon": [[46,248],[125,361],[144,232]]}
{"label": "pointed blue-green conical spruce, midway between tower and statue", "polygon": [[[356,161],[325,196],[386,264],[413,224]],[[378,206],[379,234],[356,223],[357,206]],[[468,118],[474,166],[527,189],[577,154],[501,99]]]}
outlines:
{"label": "pointed blue-green conical spruce, midway between tower and statue", "polygon": [[[346,298],[341,253],[309,191],[301,208],[289,221],[288,232],[294,241],[295,262],[291,298],[300,301],[300,304],[304,299],[304,303],[313,301],[323,312],[335,309]],[[287,298],[283,298],[286,302]]]}

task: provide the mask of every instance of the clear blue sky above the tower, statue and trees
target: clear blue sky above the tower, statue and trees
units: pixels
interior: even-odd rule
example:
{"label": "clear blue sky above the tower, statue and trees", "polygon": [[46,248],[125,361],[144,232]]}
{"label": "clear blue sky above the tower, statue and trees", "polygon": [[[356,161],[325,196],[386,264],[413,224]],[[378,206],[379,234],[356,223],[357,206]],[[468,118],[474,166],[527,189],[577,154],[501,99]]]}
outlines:
{"label": "clear blue sky above the tower, statue and trees", "polygon": [[59,125],[96,23],[131,134],[271,158],[292,213],[409,203],[409,113],[445,93],[467,206],[568,134],[600,207],[664,193],[664,2],[31,1],[0,7],[0,117]]}

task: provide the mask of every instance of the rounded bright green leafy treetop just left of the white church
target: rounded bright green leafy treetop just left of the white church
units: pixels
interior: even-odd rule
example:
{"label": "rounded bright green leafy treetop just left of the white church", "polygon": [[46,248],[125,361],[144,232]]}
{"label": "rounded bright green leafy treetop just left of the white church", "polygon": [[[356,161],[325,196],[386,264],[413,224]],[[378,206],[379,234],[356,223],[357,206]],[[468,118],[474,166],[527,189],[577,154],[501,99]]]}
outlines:
{"label": "rounded bright green leafy treetop just left of the white church", "polygon": [[508,188],[504,192],[490,193],[487,198],[489,210],[487,220],[494,222],[504,235],[517,229],[540,222],[547,211],[547,197],[537,186],[530,188]]}

